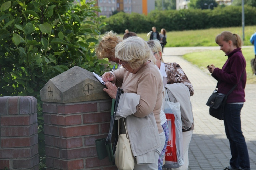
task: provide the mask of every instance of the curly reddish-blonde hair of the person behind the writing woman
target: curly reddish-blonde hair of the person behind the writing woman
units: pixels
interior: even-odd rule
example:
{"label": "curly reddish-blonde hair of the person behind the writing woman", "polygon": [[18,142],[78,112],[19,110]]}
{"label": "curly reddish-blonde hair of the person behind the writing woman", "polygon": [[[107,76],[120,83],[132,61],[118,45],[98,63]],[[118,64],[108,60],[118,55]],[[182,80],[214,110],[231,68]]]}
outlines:
{"label": "curly reddish-blonde hair of the person behind the writing woman", "polygon": [[117,36],[113,31],[106,32],[95,48],[98,59],[115,57],[115,47],[117,43],[121,42],[122,38]]}

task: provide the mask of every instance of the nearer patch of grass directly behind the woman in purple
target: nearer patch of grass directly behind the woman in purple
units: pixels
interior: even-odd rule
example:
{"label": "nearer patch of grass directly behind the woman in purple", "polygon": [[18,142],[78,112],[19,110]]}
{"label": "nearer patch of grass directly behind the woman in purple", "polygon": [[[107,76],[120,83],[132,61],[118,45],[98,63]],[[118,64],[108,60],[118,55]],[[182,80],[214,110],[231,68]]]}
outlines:
{"label": "nearer patch of grass directly behind the woman in purple", "polygon": [[[253,46],[249,48],[242,48],[242,53],[246,60],[246,73],[247,84],[256,84],[256,76],[252,73],[251,59],[254,57]],[[197,65],[200,69],[208,72],[206,66],[213,64],[215,67],[222,68],[227,60],[227,56],[221,50],[203,51],[189,53],[183,56],[183,58],[194,65]]]}

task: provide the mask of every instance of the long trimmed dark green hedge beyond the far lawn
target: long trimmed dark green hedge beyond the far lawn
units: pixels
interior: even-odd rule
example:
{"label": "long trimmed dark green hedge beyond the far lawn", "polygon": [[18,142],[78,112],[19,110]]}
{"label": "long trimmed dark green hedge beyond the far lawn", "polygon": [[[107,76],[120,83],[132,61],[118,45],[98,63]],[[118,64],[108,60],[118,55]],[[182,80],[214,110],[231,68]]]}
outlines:
{"label": "long trimmed dark green hedge beyond the far lawn", "polygon": [[[244,11],[246,26],[256,25],[256,7],[245,5]],[[113,30],[117,33],[123,33],[125,29],[146,33],[151,31],[152,26],[165,28],[167,31],[235,27],[242,25],[242,7],[219,6],[213,10],[154,10],[147,16],[119,12],[103,21],[108,25],[103,27],[101,32]]]}

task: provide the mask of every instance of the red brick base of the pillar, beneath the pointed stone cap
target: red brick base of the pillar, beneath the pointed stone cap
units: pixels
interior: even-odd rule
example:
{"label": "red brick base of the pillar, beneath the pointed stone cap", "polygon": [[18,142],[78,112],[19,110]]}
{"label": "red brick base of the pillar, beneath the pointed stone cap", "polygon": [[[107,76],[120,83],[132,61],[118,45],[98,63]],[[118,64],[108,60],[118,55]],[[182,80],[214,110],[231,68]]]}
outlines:
{"label": "red brick base of the pillar, beneath the pointed stone cap", "polygon": [[109,130],[111,100],[43,103],[47,170],[117,170],[97,158],[95,139]]}

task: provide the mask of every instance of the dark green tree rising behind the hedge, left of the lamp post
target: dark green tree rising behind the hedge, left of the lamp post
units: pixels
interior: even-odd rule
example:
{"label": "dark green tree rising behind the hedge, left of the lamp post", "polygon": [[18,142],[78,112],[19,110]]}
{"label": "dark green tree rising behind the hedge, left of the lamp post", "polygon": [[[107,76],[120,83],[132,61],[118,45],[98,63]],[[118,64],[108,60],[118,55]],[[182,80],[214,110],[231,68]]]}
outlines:
{"label": "dark green tree rising behind the hedge, left of the lamp post", "polygon": [[191,8],[213,9],[218,6],[215,0],[190,0],[188,6]]}

